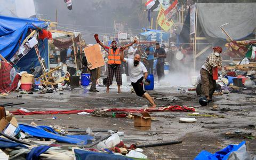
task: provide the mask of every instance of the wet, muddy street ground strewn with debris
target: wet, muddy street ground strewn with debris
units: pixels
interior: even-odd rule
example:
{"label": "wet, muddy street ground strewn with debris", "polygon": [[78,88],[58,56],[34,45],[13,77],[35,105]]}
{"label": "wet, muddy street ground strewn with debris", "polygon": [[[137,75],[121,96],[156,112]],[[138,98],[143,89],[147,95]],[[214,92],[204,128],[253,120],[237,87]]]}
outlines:
{"label": "wet, muddy street ground strewn with debris", "polygon": [[[25,105],[6,107],[6,110],[26,108],[28,110],[70,110],[70,109],[106,109],[106,108],[145,108],[148,102],[134,93],[129,86],[122,87],[122,93],[116,93],[116,87],[105,93],[105,87],[98,87],[100,92],[90,93],[89,89],[76,88],[72,91],[59,91],[54,93],[22,94],[11,93],[0,99],[1,103],[25,102]],[[31,123],[33,118],[51,118],[56,120],[34,121],[38,125],[61,125],[66,129],[111,129],[124,132],[121,139],[130,146],[132,143],[145,144],[165,141],[177,141],[178,145],[143,148],[149,159],[193,159],[202,150],[214,153],[232,143],[246,141],[247,150],[256,156],[256,140],[243,138],[227,138],[226,132],[241,131],[256,133],[256,97],[252,93],[229,93],[214,97],[209,106],[198,106],[195,91],[180,93],[178,87],[156,86],[154,91],[148,93],[155,98],[158,107],[169,105],[193,106],[199,114],[217,114],[220,117],[188,116],[185,112],[158,112],[150,113],[157,121],[153,121],[150,130],[141,131],[134,128],[133,120],[129,118],[102,118],[90,115],[29,115],[15,116],[20,123]],[[63,94],[59,94],[63,93]],[[218,110],[212,110],[213,105]],[[224,111],[221,111],[221,109]],[[229,111],[228,111],[229,110]],[[108,113],[112,114],[112,113]],[[195,117],[196,123],[179,123],[180,117]]]}

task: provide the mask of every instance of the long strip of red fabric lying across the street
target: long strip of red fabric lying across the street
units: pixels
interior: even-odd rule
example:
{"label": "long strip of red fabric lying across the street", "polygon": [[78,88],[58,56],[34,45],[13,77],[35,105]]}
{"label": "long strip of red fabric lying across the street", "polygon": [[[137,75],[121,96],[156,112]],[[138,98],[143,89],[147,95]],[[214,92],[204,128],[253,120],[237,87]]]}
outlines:
{"label": "long strip of red fabric lying across the street", "polygon": [[[45,110],[45,111],[22,111],[20,109],[15,111],[10,111],[13,115],[57,115],[57,114],[77,114],[82,111],[87,113],[92,113],[94,109],[86,109],[86,110]],[[160,107],[160,108],[146,108],[146,109],[124,109],[124,108],[111,108],[105,111],[126,111],[129,113],[142,113],[142,112],[154,112],[154,111],[195,111],[193,107],[186,106],[168,106],[168,107]]]}

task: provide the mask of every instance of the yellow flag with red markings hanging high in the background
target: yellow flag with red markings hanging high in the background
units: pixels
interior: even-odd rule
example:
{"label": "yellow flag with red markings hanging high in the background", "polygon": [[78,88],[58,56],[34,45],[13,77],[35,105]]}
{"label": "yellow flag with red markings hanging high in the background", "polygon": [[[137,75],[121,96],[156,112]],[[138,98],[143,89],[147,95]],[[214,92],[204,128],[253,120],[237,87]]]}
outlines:
{"label": "yellow flag with red markings hanging high in the background", "polygon": [[164,30],[164,31],[168,31],[170,30],[170,28],[173,25],[172,21],[168,21],[164,15],[164,8],[161,5],[158,15],[157,15],[157,23],[158,25]]}

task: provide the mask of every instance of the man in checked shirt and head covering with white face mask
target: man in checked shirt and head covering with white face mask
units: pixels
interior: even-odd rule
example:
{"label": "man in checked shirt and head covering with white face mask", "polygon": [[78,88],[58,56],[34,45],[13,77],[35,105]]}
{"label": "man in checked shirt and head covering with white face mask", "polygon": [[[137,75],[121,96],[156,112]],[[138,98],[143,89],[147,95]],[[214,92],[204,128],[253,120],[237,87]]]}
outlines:
{"label": "man in checked shirt and head covering with white face mask", "polygon": [[221,52],[221,47],[213,47],[213,53],[206,58],[200,71],[203,91],[208,101],[212,101],[212,95],[216,88],[216,81],[213,80],[212,70],[214,67],[217,67],[218,70],[222,69]]}

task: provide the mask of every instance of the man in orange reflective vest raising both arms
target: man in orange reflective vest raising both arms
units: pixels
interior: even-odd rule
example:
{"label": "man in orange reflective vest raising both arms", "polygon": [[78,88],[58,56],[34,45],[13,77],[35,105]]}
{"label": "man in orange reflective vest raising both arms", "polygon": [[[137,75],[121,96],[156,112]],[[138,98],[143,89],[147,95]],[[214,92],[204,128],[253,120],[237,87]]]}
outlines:
{"label": "man in orange reflective vest raising both arms", "polygon": [[123,50],[126,49],[126,47],[129,47],[137,42],[137,40],[134,40],[132,43],[127,44],[122,49],[119,49],[117,47],[117,42],[112,41],[111,46],[103,45],[100,40],[98,34],[94,35],[94,38],[97,43],[99,43],[107,52],[108,52],[108,76],[107,76],[107,93],[109,93],[109,86],[113,82],[113,77],[115,75],[116,77],[116,83],[118,87],[118,93],[121,92],[120,86],[122,85],[122,73],[121,73],[121,58],[120,53],[123,53]]}

